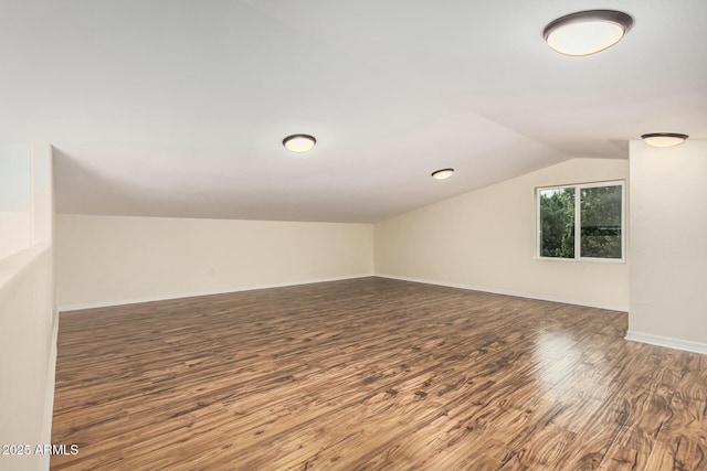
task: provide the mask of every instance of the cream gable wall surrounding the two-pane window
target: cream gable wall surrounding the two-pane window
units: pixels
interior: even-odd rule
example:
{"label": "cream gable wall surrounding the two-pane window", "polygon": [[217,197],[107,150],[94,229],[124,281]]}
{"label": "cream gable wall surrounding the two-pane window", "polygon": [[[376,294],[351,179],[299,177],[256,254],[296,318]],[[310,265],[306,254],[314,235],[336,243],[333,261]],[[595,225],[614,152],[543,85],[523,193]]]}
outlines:
{"label": "cream gable wall surrounding the two-pane window", "polygon": [[625,311],[627,263],[535,257],[535,189],[627,175],[626,160],[573,159],[383,221],[376,272]]}

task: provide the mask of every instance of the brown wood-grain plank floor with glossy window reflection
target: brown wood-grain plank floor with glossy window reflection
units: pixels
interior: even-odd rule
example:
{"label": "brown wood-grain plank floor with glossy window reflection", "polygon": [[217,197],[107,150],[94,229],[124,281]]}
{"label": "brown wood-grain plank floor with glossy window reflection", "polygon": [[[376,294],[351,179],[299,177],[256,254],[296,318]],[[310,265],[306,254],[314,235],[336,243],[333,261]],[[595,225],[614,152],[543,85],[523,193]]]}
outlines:
{"label": "brown wood-grain plank floor with glossy window reflection", "polygon": [[51,469],[707,469],[707,355],[626,322],[382,278],[62,313]]}

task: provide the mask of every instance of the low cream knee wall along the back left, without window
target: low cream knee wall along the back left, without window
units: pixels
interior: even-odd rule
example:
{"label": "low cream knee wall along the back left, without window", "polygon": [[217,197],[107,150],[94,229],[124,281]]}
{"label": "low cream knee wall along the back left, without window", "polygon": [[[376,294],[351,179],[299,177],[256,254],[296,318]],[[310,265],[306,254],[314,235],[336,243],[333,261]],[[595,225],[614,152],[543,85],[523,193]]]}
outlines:
{"label": "low cream knee wall along the back left, without window", "polygon": [[60,310],[373,272],[368,224],[57,215]]}

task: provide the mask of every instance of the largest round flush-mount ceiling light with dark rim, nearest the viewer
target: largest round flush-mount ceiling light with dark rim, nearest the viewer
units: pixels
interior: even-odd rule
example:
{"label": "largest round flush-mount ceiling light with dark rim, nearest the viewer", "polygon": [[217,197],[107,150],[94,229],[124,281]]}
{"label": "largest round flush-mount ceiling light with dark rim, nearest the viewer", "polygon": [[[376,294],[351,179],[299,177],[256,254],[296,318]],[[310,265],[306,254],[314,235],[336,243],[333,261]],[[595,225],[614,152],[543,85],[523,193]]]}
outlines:
{"label": "largest round flush-mount ceiling light with dark rim, nearest the viewer", "polygon": [[560,54],[595,54],[616,44],[633,26],[633,18],[615,10],[588,10],[558,18],[542,38]]}

